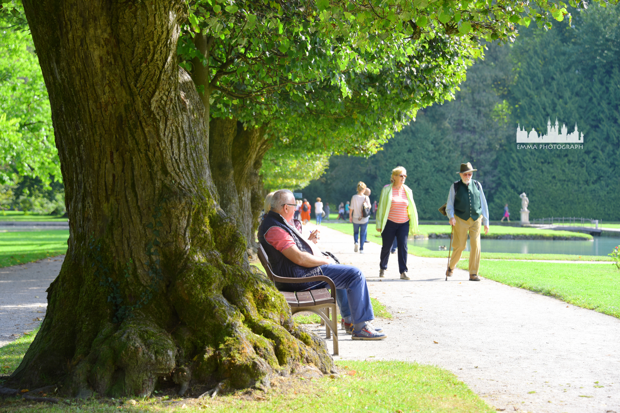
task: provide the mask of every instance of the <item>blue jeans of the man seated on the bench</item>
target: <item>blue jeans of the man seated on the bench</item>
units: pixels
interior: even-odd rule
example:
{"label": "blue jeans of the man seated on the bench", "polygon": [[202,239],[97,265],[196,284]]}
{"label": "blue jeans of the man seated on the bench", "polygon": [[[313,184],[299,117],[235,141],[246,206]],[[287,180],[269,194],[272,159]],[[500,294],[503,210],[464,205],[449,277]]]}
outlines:
{"label": "blue jeans of the man seated on the bench", "polygon": [[[324,276],[334,281],[340,315],[351,316],[353,323],[374,320],[373,305],[370,302],[366,279],[358,267],[327,264],[322,265],[321,270]],[[312,290],[325,288],[326,284],[315,285]]]}

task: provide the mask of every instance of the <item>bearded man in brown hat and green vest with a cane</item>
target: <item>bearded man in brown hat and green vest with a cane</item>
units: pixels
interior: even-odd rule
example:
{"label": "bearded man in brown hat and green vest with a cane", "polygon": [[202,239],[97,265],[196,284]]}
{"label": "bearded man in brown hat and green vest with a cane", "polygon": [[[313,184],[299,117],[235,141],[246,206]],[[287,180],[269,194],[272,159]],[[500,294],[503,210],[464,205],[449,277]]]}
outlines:
{"label": "bearded man in brown hat and green vest with a cane", "polygon": [[489,233],[489,207],[484,198],[482,185],[472,179],[474,169],[471,163],[461,163],[461,180],[455,181],[450,186],[448,201],[446,202],[446,215],[450,219],[453,230],[452,245],[454,253],[450,258],[446,276],[451,277],[452,271],[461,253],[467,246],[467,233],[469,233],[469,280],[480,281],[478,268],[480,267],[480,225],[484,226],[484,233]]}

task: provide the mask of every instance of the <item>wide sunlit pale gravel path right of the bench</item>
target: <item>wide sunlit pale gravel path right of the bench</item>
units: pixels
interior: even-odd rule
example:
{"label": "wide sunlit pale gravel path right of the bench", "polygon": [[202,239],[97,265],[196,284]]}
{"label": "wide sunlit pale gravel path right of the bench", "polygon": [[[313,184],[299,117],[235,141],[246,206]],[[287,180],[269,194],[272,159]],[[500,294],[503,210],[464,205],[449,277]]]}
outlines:
{"label": "wide sunlit pale gravel path right of the bench", "polygon": [[339,359],[438,365],[507,412],[620,413],[617,318],[492,280],[470,282],[459,269],[446,282],[444,258],[409,255],[412,279],[401,280],[392,255],[379,280],[381,246],[366,243],[356,254],[352,238],[321,228],[322,248],[360,267],[394,320],[376,323],[389,334],[384,341],[353,341],[341,330]]}

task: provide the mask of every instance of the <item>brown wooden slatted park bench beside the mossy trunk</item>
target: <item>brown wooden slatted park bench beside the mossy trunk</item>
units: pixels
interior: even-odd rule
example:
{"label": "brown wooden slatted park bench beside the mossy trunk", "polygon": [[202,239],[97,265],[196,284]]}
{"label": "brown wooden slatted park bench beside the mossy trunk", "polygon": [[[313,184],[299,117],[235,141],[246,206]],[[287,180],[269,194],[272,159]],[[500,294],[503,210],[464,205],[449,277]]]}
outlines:
{"label": "brown wooden slatted park bench beside the mossy trunk", "polygon": [[[269,259],[263,246],[259,244],[259,259],[263,264],[267,276],[275,283],[283,282],[286,284],[297,284],[301,279],[299,278],[285,278],[278,277],[273,274]],[[317,316],[321,317],[323,323],[325,323],[325,337],[329,339],[330,333],[334,334],[334,355],[338,355],[338,316],[336,312],[336,287],[334,281],[325,276],[306,277],[303,282],[312,281],[325,281],[331,287],[331,292],[328,289],[316,289],[309,291],[280,291],[286,302],[291,307],[291,314],[299,313],[299,311],[311,311]],[[332,317],[330,320],[329,310],[332,310]],[[322,324],[322,323],[321,323]]]}

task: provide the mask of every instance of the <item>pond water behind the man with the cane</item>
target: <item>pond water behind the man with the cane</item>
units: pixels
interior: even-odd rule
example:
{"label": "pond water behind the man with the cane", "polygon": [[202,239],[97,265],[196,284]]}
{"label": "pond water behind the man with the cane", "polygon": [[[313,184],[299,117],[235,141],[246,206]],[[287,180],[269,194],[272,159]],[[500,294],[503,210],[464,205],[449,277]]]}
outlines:
{"label": "pond water behind the man with the cane", "polygon": [[[448,247],[449,239],[409,240],[415,246],[438,251],[440,245]],[[480,240],[480,248],[485,253],[519,254],[576,254],[607,255],[620,245],[618,237],[594,237],[594,241],[545,241],[545,240]],[[469,251],[467,240],[466,251]]]}

